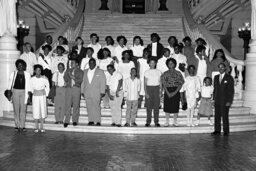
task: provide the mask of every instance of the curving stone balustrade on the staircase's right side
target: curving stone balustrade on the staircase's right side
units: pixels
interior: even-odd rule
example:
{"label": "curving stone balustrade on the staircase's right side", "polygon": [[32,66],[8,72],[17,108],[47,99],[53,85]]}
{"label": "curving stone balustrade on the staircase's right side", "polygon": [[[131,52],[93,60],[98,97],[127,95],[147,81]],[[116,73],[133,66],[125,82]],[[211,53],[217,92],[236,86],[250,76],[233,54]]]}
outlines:
{"label": "curving stone balustrade on the staircase's right side", "polygon": [[190,11],[190,2],[187,0],[183,0],[183,9],[184,9],[184,28],[185,32],[188,36],[191,37],[193,41],[197,38],[202,37],[206,40],[210,52],[213,52],[216,49],[223,49],[227,60],[230,62],[231,66],[231,75],[235,79],[235,92],[238,94],[239,98],[242,98],[242,71],[244,69],[244,61],[235,59],[234,56],[207,30],[207,28],[203,24],[198,24],[194,21],[191,11]]}

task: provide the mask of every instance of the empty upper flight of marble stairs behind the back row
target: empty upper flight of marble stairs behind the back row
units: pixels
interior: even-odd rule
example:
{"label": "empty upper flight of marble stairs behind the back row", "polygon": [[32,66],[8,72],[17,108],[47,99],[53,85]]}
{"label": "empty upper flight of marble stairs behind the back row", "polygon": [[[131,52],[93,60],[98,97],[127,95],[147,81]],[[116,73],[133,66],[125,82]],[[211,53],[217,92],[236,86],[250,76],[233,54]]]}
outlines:
{"label": "empty upper flight of marble stairs behind the back row", "polygon": [[139,35],[144,40],[144,45],[150,43],[150,34],[158,33],[161,43],[168,45],[169,36],[176,36],[179,40],[184,37],[182,16],[170,14],[110,14],[93,13],[85,14],[82,38],[85,46],[90,43],[90,34],[97,33],[100,44],[105,45],[105,37],[114,38],[124,35],[128,46],[132,45],[133,37]]}

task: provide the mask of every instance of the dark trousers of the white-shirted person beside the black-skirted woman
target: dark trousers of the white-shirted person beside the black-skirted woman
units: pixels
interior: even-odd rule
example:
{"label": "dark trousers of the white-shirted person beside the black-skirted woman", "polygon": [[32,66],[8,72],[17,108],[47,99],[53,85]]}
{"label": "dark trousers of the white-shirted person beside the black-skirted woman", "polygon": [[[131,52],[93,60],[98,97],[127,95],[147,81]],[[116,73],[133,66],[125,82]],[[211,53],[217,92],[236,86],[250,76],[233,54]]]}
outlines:
{"label": "dark trousers of the white-shirted person beside the black-skirted woman", "polygon": [[155,124],[158,124],[159,122],[159,105],[160,105],[159,90],[160,90],[159,86],[147,86],[147,93],[149,95],[149,98],[146,98],[147,124],[151,123],[152,110],[154,110]]}

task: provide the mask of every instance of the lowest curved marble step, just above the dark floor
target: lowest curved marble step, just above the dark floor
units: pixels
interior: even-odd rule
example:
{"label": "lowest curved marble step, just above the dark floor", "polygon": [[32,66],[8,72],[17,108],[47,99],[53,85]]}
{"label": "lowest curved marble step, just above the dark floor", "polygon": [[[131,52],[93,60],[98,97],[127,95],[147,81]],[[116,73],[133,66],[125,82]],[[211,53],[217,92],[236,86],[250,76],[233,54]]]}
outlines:
{"label": "lowest curved marble step, just above the dark floor", "polygon": [[[13,119],[0,118],[0,125],[14,127]],[[34,129],[34,122],[26,122],[26,128]],[[110,127],[107,125],[102,126],[86,126],[86,124],[80,124],[78,126],[69,125],[67,128],[63,128],[63,125],[56,125],[52,122],[46,122],[44,128],[54,131],[69,131],[69,132],[91,132],[91,133],[116,133],[116,134],[191,134],[191,133],[210,133],[213,131],[213,126],[200,125],[197,127],[186,127],[186,125],[180,125],[179,127]],[[231,123],[230,132],[241,131],[255,131],[255,122],[248,123]],[[32,131],[32,130],[28,130]],[[47,132],[46,132],[47,133]]]}

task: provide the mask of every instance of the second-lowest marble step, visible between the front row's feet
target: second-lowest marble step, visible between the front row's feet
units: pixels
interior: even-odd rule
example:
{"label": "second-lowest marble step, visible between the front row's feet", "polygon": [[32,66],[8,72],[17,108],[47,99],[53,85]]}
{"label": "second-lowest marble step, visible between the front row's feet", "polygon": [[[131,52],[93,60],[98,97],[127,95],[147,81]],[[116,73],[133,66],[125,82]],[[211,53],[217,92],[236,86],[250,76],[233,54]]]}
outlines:
{"label": "second-lowest marble step, visible between the front row's feet", "polygon": [[[4,112],[4,117],[8,119],[13,119],[14,118],[14,113],[13,112]],[[170,117],[170,123],[172,122],[173,115]],[[26,115],[26,121],[33,121],[33,115],[31,112],[28,112]],[[196,121],[196,116],[194,116],[194,121]],[[213,120],[213,118],[212,118]],[[55,122],[55,116],[54,114],[50,113],[48,114],[46,118],[47,122]],[[249,114],[241,114],[241,115],[230,115],[229,117],[230,123],[245,123],[245,122],[256,122],[256,115],[249,115]],[[79,123],[81,124],[87,124],[88,121],[88,116],[87,115],[81,115],[79,117]],[[125,124],[126,119],[125,116],[122,116],[122,124]],[[187,124],[187,118],[186,116],[179,116],[178,117],[178,122],[181,125],[186,125]],[[103,115],[101,117],[101,123],[104,125],[110,125],[112,123],[112,117],[110,115]],[[146,123],[146,116],[145,117],[137,117],[136,118],[136,123],[139,125],[143,125]],[[165,123],[165,116],[161,115],[159,117],[159,123],[164,124]],[[200,118],[200,125],[207,125],[208,124],[208,118],[207,117],[201,117]]]}

